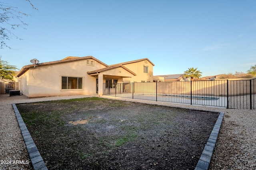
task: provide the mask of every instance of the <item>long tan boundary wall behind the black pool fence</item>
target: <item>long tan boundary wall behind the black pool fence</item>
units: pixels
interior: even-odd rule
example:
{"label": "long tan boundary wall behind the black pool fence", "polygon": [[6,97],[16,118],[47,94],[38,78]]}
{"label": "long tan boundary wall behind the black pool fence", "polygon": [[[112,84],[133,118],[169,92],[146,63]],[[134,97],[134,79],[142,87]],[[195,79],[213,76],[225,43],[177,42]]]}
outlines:
{"label": "long tan boundary wall behind the black pool fence", "polygon": [[[192,95],[197,96],[240,96],[250,94],[250,80],[204,80],[204,81],[173,81],[134,83],[135,93],[162,95]],[[228,83],[228,84],[227,84]],[[192,85],[192,89],[191,86]],[[157,89],[157,90],[156,90]],[[228,90],[227,90],[228,89]],[[256,80],[252,80],[252,94],[256,94]],[[228,93],[227,93],[228,92]]]}

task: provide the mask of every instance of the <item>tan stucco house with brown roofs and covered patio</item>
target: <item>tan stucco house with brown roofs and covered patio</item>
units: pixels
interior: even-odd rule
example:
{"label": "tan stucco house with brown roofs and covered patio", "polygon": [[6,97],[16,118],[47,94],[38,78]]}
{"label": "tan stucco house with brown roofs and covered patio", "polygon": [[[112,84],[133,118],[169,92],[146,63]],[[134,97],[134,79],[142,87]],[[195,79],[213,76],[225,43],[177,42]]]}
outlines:
{"label": "tan stucco house with brown roofs and covered patio", "polygon": [[153,82],[153,66],[147,58],[107,65],[92,56],[66,57],[23,66],[17,77],[19,90],[29,98],[102,95],[104,83]]}

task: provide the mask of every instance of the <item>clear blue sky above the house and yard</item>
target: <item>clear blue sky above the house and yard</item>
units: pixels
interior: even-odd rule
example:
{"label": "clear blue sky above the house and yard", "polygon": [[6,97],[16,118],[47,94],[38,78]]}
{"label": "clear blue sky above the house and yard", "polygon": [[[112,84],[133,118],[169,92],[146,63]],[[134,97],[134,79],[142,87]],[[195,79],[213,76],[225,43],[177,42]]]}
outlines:
{"label": "clear blue sky above the house and yard", "polygon": [[246,72],[256,64],[255,0],[2,0],[31,16],[2,60],[22,68],[67,56],[110,65],[148,58],[154,75]]}

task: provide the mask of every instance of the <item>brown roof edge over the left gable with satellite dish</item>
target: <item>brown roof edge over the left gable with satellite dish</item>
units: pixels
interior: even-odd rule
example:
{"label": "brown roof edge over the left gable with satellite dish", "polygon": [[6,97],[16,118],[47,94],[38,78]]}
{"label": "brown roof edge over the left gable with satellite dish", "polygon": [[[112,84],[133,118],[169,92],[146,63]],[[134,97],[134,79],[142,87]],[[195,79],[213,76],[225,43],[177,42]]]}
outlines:
{"label": "brown roof edge over the left gable with satellite dish", "polygon": [[[107,64],[103,63],[102,61],[92,57],[92,56],[87,56],[87,57],[66,57],[62,60],[58,61],[51,61],[51,62],[46,62],[46,63],[38,63],[36,64],[37,66],[45,66],[45,65],[51,65],[51,64],[59,64],[59,63],[66,63],[66,62],[71,62],[71,61],[79,61],[79,60],[86,60],[86,59],[93,59],[97,61],[98,63],[108,67]],[[17,77],[20,77],[22,74],[24,74],[29,68],[33,68],[34,64],[26,65],[21,68],[21,70],[18,72]]]}

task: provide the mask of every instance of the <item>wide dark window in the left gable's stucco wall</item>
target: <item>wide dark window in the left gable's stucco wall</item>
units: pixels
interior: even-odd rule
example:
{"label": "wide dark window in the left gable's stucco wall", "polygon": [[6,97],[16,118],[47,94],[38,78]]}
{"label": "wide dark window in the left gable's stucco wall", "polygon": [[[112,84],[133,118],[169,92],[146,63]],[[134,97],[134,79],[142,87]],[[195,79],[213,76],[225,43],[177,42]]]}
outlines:
{"label": "wide dark window in the left gable's stucco wall", "polygon": [[61,89],[82,89],[82,77],[62,76]]}

